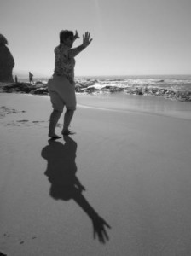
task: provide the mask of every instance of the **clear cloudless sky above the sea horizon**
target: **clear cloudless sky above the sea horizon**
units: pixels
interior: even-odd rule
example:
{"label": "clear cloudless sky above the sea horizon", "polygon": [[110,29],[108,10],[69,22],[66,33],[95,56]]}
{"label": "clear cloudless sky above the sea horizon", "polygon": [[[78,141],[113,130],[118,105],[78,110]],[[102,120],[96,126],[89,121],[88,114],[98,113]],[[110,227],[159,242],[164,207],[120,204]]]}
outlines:
{"label": "clear cloudless sky above the sea horizon", "polygon": [[59,32],[93,41],[76,56],[76,76],[191,74],[190,0],[0,0],[0,33],[14,74],[51,76]]}

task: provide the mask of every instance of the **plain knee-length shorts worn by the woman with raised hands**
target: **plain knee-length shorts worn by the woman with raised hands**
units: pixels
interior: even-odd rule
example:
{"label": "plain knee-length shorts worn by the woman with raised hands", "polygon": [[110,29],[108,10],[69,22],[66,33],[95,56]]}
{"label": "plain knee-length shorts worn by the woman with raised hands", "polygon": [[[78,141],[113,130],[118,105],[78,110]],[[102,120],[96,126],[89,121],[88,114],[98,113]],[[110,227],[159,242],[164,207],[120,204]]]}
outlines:
{"label": "plain knee-length shorts worn by the woman with raised hands", "polygon": [[64,76],[53,76],[49,79],[48,90],[52,107],[60,112],[64,106],[76,110],[75,86]]}

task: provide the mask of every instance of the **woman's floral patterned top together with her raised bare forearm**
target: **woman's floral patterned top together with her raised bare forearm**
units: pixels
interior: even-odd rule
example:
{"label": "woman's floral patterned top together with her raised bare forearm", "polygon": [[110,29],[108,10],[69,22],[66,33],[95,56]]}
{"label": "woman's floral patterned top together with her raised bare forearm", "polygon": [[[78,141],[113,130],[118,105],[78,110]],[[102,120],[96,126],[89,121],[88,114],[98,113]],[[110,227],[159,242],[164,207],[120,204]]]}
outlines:
{"label": "woman's floral patterned top together with her raised bare forearm", "polygon": [[70,49],[65,44],[60,44],[55,48],[55,75],[66,76],[70,83],[74,84],[74,57],[84,49],[84,45]]}

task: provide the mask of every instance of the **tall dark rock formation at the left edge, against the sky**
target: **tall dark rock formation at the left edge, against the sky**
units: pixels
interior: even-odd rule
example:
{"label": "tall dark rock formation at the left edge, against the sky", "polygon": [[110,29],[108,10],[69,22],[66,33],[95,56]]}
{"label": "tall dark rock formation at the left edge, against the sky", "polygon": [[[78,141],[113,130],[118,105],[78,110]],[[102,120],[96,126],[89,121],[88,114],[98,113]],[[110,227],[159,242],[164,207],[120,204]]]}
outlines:
{"label": "tall dark rock formation at the left edge, against the sky", "polygon": [[13,83],[14,58],[6,44],[7,39],[0,34],[0,82]]}

